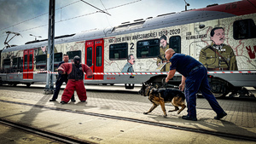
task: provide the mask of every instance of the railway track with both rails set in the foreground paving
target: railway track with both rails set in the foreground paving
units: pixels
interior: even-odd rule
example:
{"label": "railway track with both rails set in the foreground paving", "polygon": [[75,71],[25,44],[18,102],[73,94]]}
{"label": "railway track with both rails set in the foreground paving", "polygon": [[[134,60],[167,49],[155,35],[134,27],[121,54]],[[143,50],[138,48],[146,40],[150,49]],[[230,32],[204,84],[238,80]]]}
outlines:
{"label": "railway track with both rails set in the foreground paving", "polygon": [[[73,110],[65,109],[65,108],[47,107],[47,106],[34,105],[34,104],[29,104],[29,103],[24,103],[24,102],[17,102],[17,101],[4,101],[4,100],[0,100],[0,101],[17,104],[17,105],[30,106],[30,107],[46,108],[46,109],[54,110],[54,111],[73,112],[73,113],[79,113],[79,114],[90,115],[90,116],[101,117],[101,118],[113,118],[113,119],[124,120],[124,121],[139,123],[139,124],[149,124],[149,125],[154,125],[154,126],[160,126],[160,127],[165,127],[165,128],[169,128],[169,129],[175,129],[175,130],[185,130],[185,131],[191,131],[191,132],[202,133],[202,134],[207,134],[207,135],[217,135],[217,136],[222,136],[222,137],[227,137],[227,138],[232,138],[232,139],[237,139],[237,140],[256,141],[256,137],[253,137],[253,136],[234,135],[234,134],[228,134],[228,133],[224,133],[224,132],[216,132],[216,131],[211,131],[211,130],[193,129],[193,128],[182,127],[182,126],[177,126],[177,125],[172,125],[172,124],[161,124],[161,123],[137,119],[137,118],[125,118],[125,117],[101,114],[101,113],[96,113],[96,112],[84,112],[84,111],[79,111],[79,110],[73,111]],[[5,120],[0,119],[1,123],[4,121]],[[5,123],[7,123],[7,122],[5,121]],[[23,127],[23,125],[21,125],[21,127]],[[27,126],[25,126],[25,127],[26,127],[26,129],[30,129]],[[35,128],[31,128],[31,129],[35,130],[35,131],[38,130]],[[46,135],[55,135],[54,137],[58,137],[58,140],[65,139],[65,141],[63,141],[65,143],[69,143],[69,142],[73,143],[73,141],[81,143],[81,140],[68,138],[67,135],[55,134],[55,133],[51,133],[51,132],[45,131],[45,130],[38,130],[38,132],[43,133],[43,134],[46,133]],[[68,140],[67,140],[67,138],[68,138]],[[58,140],[56,140],[56,141],[58,141]],[[86,142],[87,141],[83,141],[82,143],[86,143]]]}

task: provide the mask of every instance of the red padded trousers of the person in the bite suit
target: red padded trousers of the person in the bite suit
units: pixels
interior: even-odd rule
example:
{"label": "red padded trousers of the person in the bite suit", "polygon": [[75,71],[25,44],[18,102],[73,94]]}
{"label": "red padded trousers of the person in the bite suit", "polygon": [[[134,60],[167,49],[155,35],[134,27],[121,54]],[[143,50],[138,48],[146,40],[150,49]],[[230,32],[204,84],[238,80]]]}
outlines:
{"label": "red padded trousers of the person in the bite suit", "polygon": [[77,91],[80,101],[87,100],[86,89],[84,88],[84,81],[83,80],[78,80],[78,81],[68,80],[67,86],[64,89],[64,92],[61,96],[61,101],[68,102],[71,98],[71,95],[73,95],[74,90]]}

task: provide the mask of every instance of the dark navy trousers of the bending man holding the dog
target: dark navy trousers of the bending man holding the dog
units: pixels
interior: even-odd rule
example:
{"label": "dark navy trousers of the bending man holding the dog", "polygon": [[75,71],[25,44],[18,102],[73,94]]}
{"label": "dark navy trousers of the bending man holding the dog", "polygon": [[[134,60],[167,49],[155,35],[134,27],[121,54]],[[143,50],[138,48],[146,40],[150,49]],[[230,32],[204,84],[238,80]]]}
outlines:
{"label": "dark navy trousers of the bending man holding the dog", "polygon": [[219,106],[218,101],[214,95],[212,95],[211,88],[207,79],[207,68],[205,66],[199,66],[189,72],[189,76],[186,78],[185,96],[188,107],[188,116],[196,118],[196,93],[200,90],[201,94],[207,99],[212,110],[217,114],[224,112]]}

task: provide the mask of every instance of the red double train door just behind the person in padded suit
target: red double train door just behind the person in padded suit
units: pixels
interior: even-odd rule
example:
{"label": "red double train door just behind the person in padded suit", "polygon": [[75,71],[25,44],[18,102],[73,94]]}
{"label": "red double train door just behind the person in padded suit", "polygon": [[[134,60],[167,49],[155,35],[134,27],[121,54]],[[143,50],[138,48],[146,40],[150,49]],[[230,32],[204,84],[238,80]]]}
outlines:
{"label": "red double train door just behind the person in padded suit", "polygon": [[[85,64],[90,66],[92,72],[103,72],[104,70],[104,41],[103,39],[85,42]],[[103,75],[94,75],[93,78],[103,80]]]}

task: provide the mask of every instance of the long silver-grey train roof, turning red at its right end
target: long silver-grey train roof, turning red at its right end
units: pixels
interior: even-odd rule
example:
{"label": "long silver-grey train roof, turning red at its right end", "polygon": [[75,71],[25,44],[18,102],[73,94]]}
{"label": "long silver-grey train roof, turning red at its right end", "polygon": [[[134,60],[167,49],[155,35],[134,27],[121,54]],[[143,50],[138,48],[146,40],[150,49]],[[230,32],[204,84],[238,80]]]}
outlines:
{"label": "long silver-grey train roof, turning red at its right end", "polygon": [[[83,33],[55,37],[55,44],[71,43],[98,39],[102,37],[113,37],[120,34],[131,32],[143,32],[152,29],[158,29],[167,26],[179,26],[194,22],[206,20],[222,19],[235,15],[256,13],[256,0],[242,0],[235,3],[225,3],[222,5],[213,4],[203,9],[190,9],[178,13],[161,14],[157,17],[149,17],[146,20],[134,20],[133,22],[125,22],[120,26],[108,27],[105,29],[94,29]],[[29,42],[25,45],[3,49],[3,52],[33,49],[48,45],[47,39]]]}

